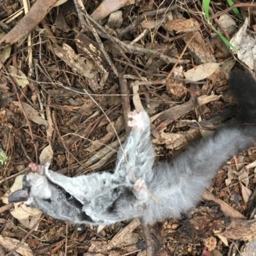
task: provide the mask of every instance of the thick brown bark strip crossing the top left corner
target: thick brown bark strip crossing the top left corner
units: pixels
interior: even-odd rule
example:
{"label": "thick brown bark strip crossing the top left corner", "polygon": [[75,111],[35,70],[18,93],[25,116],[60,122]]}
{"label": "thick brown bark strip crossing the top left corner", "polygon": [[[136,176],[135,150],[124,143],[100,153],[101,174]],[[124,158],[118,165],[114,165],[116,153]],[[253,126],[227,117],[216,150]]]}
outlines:
{"label": "thick brown bark strip crossing the top left corner", "polygon": [[29,12],[17,23],[17,25],[0,40],[0,49],[19,42],[28,36],[36,25],[44,19],[58,0],[37,0]]}

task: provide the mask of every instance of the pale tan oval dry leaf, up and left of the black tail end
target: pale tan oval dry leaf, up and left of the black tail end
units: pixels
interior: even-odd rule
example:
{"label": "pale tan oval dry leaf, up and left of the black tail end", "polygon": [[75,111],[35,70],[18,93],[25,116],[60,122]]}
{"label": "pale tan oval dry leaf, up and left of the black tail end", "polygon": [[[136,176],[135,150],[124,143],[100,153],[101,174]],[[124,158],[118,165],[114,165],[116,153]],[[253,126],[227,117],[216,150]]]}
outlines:
{"label": "pale tan oval dry leaf, up and left of the black tail end", "polygon": [[212,73],[220,66],[219,63],[206,63],[198,65],[195,68],[189,69],[187,72],[184,72],[186,79],[197,82],[206,77],[211,76]]}

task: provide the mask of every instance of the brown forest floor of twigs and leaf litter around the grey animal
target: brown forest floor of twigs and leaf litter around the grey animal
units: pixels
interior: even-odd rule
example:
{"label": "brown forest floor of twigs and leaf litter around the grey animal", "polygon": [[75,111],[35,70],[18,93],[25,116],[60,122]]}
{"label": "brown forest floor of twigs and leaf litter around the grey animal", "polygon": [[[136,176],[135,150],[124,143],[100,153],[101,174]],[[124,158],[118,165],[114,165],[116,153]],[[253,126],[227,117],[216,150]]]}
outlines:
{"label": "brown forest floor of twigs and leaf litter around the grey animal", "polygon": [[86,13],[78,0],[26,2],[0,0],[0,255],[141,256],[145,232],[152,255],[256,255],[256,148],[230,159],[182,220],[77,232],[5,204],[42,157],[70,177],[113,170],[134,108],[150,116],[156,161],[211,136],[237,112],[230,70],[253,74],[256,3],[87,0]]}

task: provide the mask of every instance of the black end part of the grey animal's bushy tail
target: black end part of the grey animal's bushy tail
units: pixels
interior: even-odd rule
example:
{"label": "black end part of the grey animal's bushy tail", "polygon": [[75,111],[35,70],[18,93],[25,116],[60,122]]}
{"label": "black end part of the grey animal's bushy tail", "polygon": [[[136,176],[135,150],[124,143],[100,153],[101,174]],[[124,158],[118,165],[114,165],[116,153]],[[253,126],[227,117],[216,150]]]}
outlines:
{"label": "black end part of the grey animal's bushy tail", "polygon": [[239,100],[241,112],[237,121],[241,124],[256,124],[256,80],[245,71],[232,72],[229,79],[230,90]]}

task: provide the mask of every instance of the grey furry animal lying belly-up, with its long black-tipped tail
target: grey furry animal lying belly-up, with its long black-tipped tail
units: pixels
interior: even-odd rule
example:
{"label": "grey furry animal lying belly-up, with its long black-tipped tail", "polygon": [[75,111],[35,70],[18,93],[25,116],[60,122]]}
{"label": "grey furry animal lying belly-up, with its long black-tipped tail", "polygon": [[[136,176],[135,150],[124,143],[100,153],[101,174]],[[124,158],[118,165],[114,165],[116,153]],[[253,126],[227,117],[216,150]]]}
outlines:
{"label": "grey furry animal lying belly-up, with its long black-tipped tail", "polygon": [[[195,207],[221,165],[255,143],[256,126],[246,125],[256,124],[255,80],[244,72],[233,73],[230,87],[239,99],[241,114],[234,122],[221,127],[212,138],[198,140],[173,161],[154,163],[148,116],[145,112],[131,113],[133,120],[129,125],[133,128],[123,145],[125,154],[122,150],[118,152],[113,173],[70,178],[44,166],[41,168],[44,175],[35,176],[35,179],[31,176],[36,173],[26,176],[24,189],[28,196],[22,192],[20,198],[53,218],[72,223],[74,216],[70,218],[68,214],[70,205],[67,205],[67,196],[63,196],[66,194],[80,203],[76,211],[87,218],[79,217],[83,219],[80,223],[108,225],[137,217],[151,223],[180,218],[180,214]],[[43,186],[38,186],[38,180],[53,191],[51,196],[45,196],[49,193]],[[56,195],[61,195],[60,199],[56,200]],[[13,198],[19,199],[19,193]],[[45,200],[48,205],[44,205]],[[9,201],[12,201],[12,195]]]}

